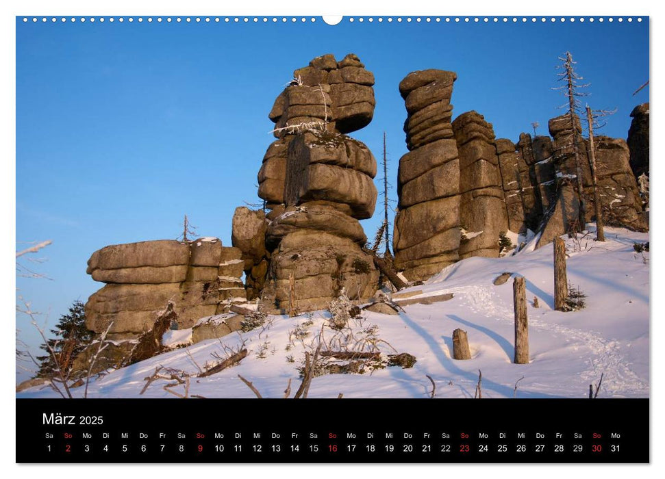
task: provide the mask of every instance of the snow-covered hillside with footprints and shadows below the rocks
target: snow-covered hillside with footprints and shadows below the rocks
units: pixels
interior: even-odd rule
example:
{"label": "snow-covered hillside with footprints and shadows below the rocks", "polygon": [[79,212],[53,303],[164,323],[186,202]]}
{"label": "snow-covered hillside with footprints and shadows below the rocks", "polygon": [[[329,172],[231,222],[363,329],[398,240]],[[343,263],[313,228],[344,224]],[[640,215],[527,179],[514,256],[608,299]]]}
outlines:
{"label": "snow-covered hillside with footprints and shadows below the rocks", "polygon": [[[575,246],[566,238],[568,281],[586,294],[586,309],[562,313],[553,310],[552,244],[538,250],[529,246],[501,259],[473,257],[455,263],[405,292],[412,298],[452,293],[453,298],[429,305],[404,306],[399,315],[363,311],[362,320],[351,320],[352,331],[327,326],[329,313],[318,311],[297,318],[273,316],[264,328],[210,339],[188,348],[160,354],[111,372],[90,384],[92,398],[176,396],[162,389],[168,380],[156,380],[139,396],[145,378],[162,365],[196,376],[220,362],[225,350],[238,350],[244,341],[247,357],[239,365],[206,378],[190,379],[190,395],[206,398],[253,398],[242,375],[264,398],[281,398],[289,378],[292,393],[298,388],[298,368],[305,351],[318,341],[335,349],[370,351],[378,348],[381,360],[388,354],[407,352],[417,362],[410,369],[378,367],[364,374],[325,374],[312,380],[310,398],[429,398],[431,382],[436,398],[473,398],[482,372],[484,398],[585,398],[590,383],[603,374],[599,397],[649,396],[649,253],[633,250],[634,242],[647,242],[649,235],[606,228],[607,242],[594,242],[588,235]],[[512,279],[503,285],[493,281],[503,272],[526,279],[529,301],[529,349],[531,363],[512,364],[514,316]],[[400,292],[403,294],[403,292]],[[534,308],[534,297],[540,307]],[[410,299],[412,299],[410,298]],[[376,327],[374,327],[376,326]],[[451,335],[456,328],[468,333],[473,359],[455,361]],[[323,331],[323,333],[322,333]],[[323,336],[321,336],[323,335]],[[179,340],[187,339],[179,333]],[[216,358],[217,357],[217,358]],[[375,365],[384,366],[385,363]],[[515,383],[520,378],[515,391]],[[171,381],[173,382],[173,381]],[[82,396],[82,387],[73,389]],[[183,387],[173,387],[183,393]],[[33,388],[17,397],[53,397],[48,388]]]}

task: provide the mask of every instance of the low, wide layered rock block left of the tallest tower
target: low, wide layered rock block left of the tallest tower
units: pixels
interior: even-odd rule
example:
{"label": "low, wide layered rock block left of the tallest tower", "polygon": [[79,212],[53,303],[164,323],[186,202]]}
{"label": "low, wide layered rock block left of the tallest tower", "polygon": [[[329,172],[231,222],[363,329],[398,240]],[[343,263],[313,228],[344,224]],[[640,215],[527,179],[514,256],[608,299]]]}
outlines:
{"label": "low, wide layered rock block left of the tallest tower", "polygon": [[159,312],[173,302],[179,328],[245,301],[244,262],[238,248],[217,238],[106,246],[92,253],[88,274],[107,283],[86,303],[86,327],[109,339],[136,339],[149,331]]}

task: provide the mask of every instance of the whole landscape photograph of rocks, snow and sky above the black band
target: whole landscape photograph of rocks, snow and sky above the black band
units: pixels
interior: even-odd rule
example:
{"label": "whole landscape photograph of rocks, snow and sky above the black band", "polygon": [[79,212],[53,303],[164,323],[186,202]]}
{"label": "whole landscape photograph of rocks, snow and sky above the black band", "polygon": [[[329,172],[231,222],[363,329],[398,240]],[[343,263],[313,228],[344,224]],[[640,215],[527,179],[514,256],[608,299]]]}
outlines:
{"label": "whole landscape photograph of rocks, snow and sky above the black band", "polygon": [[649,94],[649,16],[17,16],[16,402],[648,399]]}

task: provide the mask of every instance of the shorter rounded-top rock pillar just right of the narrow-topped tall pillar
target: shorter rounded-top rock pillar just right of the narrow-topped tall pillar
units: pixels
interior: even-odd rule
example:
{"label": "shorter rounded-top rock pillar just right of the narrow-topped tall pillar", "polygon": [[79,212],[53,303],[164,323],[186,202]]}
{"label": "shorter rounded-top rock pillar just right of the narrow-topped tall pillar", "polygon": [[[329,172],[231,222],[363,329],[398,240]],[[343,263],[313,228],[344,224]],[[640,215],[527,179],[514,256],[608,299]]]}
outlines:
{"label": "shorter rounded-top rock pillar just right of the narrow-topped tall pillar", "polygon": [[460,153],[460,259],[499,257],[499,234],[508,229],[494,130],[477,112],[453,121]]}

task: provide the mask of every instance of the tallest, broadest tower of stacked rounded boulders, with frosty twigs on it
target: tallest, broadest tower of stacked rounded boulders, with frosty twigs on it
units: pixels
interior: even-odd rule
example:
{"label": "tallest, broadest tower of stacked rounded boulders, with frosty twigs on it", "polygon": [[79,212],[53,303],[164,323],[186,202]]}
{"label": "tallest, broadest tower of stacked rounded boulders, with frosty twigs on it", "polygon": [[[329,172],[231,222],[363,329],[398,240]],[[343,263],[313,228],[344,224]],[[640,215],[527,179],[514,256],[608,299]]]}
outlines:
{"label": "tallest, broadest tower of stacked rounded boulders, with frosty twigs on it", "polygon": [[342,289],[351,299],[375,292],[378,272],[362,251],[358,220],[374,212],[377,165],[364,144],[346,135],[372,120],[373,84],[357,56],[337,62],[323,55],[295,70],[273,105],[277,141],[264,156],[258,194],[268,209],[264,290],[279,311],[288,311],[291,300],[298,311],[326,307]]}

